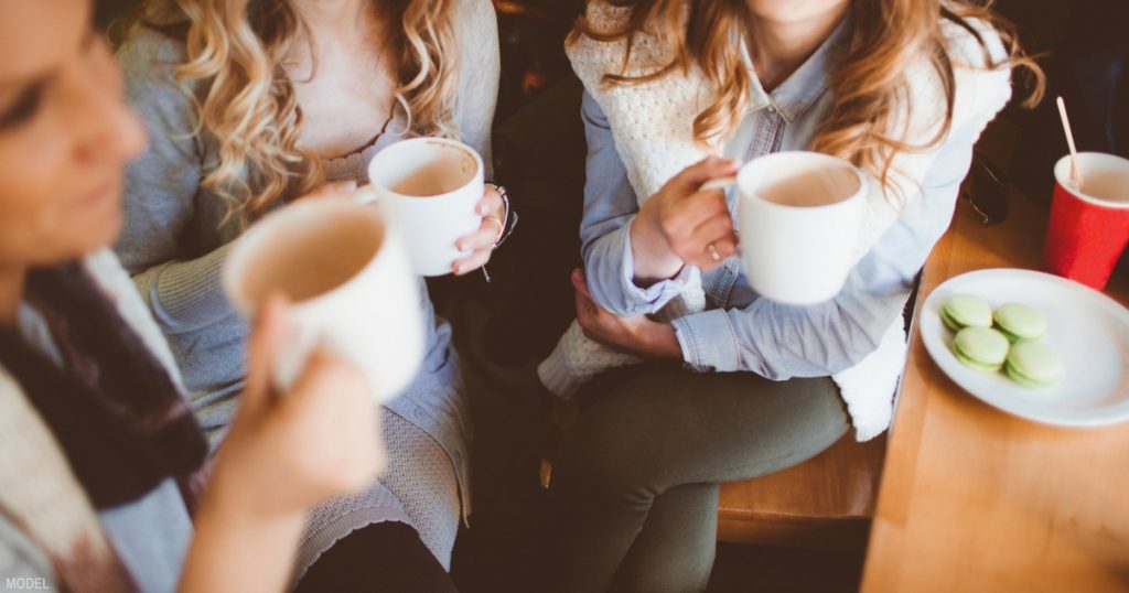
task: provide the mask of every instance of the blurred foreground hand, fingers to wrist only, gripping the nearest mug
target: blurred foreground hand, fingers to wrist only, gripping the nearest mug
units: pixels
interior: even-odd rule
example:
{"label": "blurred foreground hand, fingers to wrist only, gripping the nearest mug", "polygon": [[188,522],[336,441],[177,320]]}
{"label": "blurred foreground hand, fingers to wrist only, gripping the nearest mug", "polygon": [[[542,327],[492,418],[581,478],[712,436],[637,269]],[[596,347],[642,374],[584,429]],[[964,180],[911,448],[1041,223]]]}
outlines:
{"label": "blurred foreground hand, fingers to wrist only, gripping the nearest mug", "polygon": [[318,350],[290,392],[273,391],[286,314],[274,297],[257,320],[246,390],[212,478],[217,496],[228,497],[216,503],[247,513],[305,513],[364,488],[384,465],[377,411],[359,370]]}

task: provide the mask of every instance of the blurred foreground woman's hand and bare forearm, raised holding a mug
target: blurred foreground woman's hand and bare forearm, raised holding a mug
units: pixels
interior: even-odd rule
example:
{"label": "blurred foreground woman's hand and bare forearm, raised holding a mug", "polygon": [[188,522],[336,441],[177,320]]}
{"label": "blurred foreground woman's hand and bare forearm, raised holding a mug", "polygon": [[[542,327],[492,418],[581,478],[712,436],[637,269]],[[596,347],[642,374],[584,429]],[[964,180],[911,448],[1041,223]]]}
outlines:
{"label": "blurred foreground woman's hand and bare forearm, raised holding a mug", "polygon": [[309,507],[365,488],[384,465],[357,369],[318,351],[289,393],[272,391],[287,333],[275,297],[251,338],[247,386],[194,521],[182,593],[286,590]]}

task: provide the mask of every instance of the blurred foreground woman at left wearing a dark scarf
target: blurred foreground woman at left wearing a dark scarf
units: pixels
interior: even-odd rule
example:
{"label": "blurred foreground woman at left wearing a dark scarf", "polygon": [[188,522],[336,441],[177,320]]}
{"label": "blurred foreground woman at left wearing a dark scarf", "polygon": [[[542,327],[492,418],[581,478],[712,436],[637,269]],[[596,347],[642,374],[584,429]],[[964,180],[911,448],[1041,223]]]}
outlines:
{"label": "blurred foreground woman at left wearing a dark scarf", "polygon": [[289,339],[275,300],[205,470],[173,355],[108,250],[145,131],[91,11],[0,2],[0,573],[14,590],[280,591],[308,508],[378,469],[371,402],[324,354],[285,399],[268,389]]}

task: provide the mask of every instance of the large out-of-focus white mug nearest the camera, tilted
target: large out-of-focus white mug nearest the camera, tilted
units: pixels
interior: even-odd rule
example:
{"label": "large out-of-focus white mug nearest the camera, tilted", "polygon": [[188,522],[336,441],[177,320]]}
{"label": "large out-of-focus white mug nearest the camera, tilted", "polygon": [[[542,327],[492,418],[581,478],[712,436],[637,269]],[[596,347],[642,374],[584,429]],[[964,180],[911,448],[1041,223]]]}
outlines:
{"label": "large out-of-focus white mug nearest the camera, tilted", "polygon": [[383,209],[332,199],[268,215],[238,239],[224,270],[228,298],[248,320],[272,293],[292,303],[275,386],[289,391],[322,346],[364,372],[376,401],[399,394],[422,363],[417,282]]}

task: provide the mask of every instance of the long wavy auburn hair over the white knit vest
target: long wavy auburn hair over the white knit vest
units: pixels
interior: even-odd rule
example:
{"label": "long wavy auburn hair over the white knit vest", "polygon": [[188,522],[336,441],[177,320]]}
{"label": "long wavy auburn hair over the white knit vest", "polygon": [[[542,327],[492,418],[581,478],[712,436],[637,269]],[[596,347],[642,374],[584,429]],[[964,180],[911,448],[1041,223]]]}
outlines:
{"label": "long wavy auburn hair over the white knit vest", "polygon": [[[747,24],[745,0],[601,0],[630,7],[619,30],[598,32],[581,16],[567,43],[580,36],[601,42],[624,41],[624,71],[637,35],[653,35],[658,44],[672,50],[666,64],[639,76],[621,72],[604,75],[607,85],[637,85],[679,72],[697,64],[716,89],[712,103],[694,116],[694,138],[711,143],[730,133],[750,101],[750,73],[734,35]],[[952,21],[968,30],[984,52],[984,67],[1026,71],[1030,93],[1025,105],[1042,98],[1044,78],[1034,60],[1019,46],[1012,25],[990,9],[991,0],[852,0],[854,26],[848,51],[831,76],[831,112],[809,147],[850,160],[877,177],[890,189],[891,163],[900,151],[920,151],[937,146],[947,136],[953,121],[955,76],[948,40],[942,28]],[[689,19],[686,12],[689,11]],[[972,25],[980,20],[994,27],[1007,51],[997,61]],[[907,72],[926,59],[933,67],[946,99],[945,119],[933,138],[908,138],[907,127],[898,125],[899,106],[905,107],[909,94]]]}

